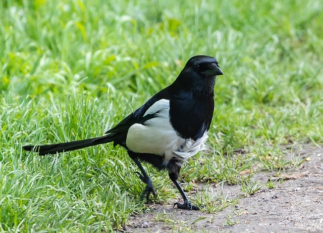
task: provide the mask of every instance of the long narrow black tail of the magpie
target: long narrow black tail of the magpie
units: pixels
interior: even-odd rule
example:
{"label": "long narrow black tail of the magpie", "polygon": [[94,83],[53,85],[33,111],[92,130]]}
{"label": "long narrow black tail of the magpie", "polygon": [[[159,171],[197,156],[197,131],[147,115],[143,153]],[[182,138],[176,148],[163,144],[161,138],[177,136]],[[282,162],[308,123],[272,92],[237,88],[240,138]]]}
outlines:
{"label": "long narrow black tail of the magpie", "polygon": [[23,146],[25,151],[38,152],[39,155],[52,155],[60,152],[74,151],[77,149],[91,147],[99,144],[110,143],[114,141],[114,137],[111,134],[107,134],[101,137],[89,138],[80,141],[58,143],[51,145],[40,146]]}

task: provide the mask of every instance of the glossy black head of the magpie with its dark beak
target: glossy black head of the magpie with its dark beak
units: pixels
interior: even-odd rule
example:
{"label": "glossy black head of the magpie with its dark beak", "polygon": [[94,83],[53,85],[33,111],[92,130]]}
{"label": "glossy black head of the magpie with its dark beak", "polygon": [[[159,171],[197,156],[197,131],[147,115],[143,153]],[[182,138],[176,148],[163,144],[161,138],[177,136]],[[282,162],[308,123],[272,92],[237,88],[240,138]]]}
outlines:
{"label": "glossy black head of the magpie with its dark beak", "polygon": [[174,82],[197,95],[213,95],[216,76],[223,75],[216,58],[198,55],[190,58]]}

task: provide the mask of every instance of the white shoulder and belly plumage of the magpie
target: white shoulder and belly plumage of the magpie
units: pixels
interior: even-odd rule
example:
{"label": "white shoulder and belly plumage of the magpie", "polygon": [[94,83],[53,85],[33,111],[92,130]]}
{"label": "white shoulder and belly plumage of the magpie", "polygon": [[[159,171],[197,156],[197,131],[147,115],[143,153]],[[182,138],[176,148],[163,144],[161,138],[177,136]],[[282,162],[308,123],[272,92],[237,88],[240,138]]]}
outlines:
{"label": "white shoulder and belly plumage of the magpie", "polygon": [[164,163],[174,157],[184,160],[204,150],[206,132],[196,141],[181,138],[170,123],[169,110],[169,100],[154,103],[144,116],[153,113],[157,116],[145,121],[144,125],[136,123],[129,128],[126,139],[128,149],[136,153],[165,156]]}

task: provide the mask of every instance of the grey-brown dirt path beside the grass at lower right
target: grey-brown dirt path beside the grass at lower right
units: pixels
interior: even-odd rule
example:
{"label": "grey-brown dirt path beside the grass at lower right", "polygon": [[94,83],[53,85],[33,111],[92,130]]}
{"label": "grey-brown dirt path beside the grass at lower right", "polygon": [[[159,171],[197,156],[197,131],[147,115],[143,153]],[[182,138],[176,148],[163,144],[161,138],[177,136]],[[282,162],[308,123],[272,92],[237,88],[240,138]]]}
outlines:
{"label": "grey-brown dirt path beside the grass at lower right", "polygon": [[[309,159],[277,188],[264,188],[214,214],[153,205],[149,213],[132,217],[125,231],[173,232],[175,226],[182,232],[323,232],[323,147],[303,146],[300,153]],[[266,182],[272,174],[254,178]],[[225,185],[222,192],[241,195],[237,185]]]}

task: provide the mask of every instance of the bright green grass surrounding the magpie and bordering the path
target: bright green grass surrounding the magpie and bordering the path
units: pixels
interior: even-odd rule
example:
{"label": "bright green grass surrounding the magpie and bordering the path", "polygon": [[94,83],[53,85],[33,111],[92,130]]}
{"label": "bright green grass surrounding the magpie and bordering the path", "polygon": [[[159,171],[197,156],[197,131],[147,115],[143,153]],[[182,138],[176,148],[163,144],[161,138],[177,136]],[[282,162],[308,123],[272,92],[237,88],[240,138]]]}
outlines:
{"label": "bright green grass surrounding the magpie and bordering the path", "polygon": [[[184,186],[224,181],[252,194],[258,170],[295,169],[304,160],[284,146],[323,142],[322,10],[318,0],[2,1],[0,230],[109,231],[145,210],[122,148],[38,157],[21,146],[102,135],[197,54],[215,56],[225,75],[208,150],[185,164]],[[155,201],[179,197],[167,172],[145,166]],[[194,199],[203,211],[238,201],[207,190]]]}

